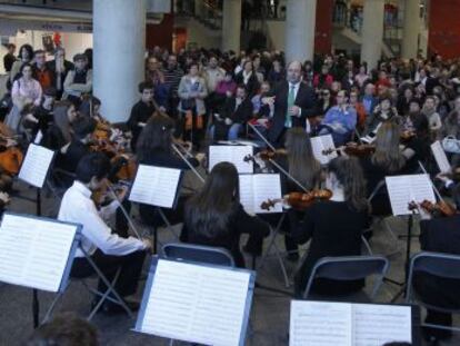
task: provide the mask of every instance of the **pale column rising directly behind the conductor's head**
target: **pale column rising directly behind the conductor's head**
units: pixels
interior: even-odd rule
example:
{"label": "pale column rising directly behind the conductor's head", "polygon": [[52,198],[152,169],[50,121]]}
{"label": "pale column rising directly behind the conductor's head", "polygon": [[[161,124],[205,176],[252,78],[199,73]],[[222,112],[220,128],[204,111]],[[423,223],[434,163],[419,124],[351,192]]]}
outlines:
{"label": "pale column rising directly behind the conductor's head", "polygon": [[286,13],[286,58],[313,60],[317,0],[288,0]]}

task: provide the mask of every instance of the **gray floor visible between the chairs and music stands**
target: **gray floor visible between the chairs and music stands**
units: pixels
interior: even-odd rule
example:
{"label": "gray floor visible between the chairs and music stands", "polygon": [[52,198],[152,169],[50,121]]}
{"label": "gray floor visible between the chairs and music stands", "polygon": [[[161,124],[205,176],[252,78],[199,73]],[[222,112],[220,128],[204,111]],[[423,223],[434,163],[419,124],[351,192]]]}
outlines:
{"label": "gray floor visible between the chairs and music stands", "polygon": [[[17,188],[22,195],[33,195],[33,190],[24,185],[18,184]],[[43,210],[47,214],[52,210],[52,206],[57,205],[58,200],[53,198],[44,198]],[[14,200],[10,206],[10,210],[20,212],[33,212],[34,205],[24,200]],[[48,212],[49,214],[49,212]],[[390,219],[390,225],[398,234],[403,234],[406,229],[404,220]],[[417,228],[417,227],[416,227]],[[416,233],[418,229],[414,230]],[[162,243],[172,240],[170,233],[162,230],[160,233]],[[281,239],[279,239],[281,240]],[[280,241],[281,244],[281,241]],[[401,249],[404,241],[399,240],[394,243],[391,240],[389,234],[379,227],[371,246],[376,254],[388,254],[394,250],[394,245]],[[419,249],[418,239],[412,239],[412,251]],[[389,277],[396,280],[403,279],[403,253],[400,251],[389,257],[391,268]],[[249,263],[249,261],[248,261]],[[293,265],[286,261],[288,273],[291,274]],[[147,265],[146,265],[147,268]],[[286,289],[280,271],[280,267],[274,257],[269,257],[264,268],[258,271],[258,281],[279,289]],[[139,297],[142,294],[143,283],[139,290]],[[378,301],[390,301],[399,287],[386,284],[382,286],[378,296]],[[20,345],[20,343],[31,333],[31,290],[27,288],[0,284],[0,345]],[[40,304],[42,310],[51,301],[53,295],[40,293]],[[81,316],[89,312],[89,304],[91,297],[80,284],[72,284],[64,295],[61,303],[58,305],[58,312],[74,312]],[[251,323],[253,334],[248,338],[248,345],[288,345],[288,324],[289,324],[289,303],[290,297],[257,289],[251,312]],[[94,325],[100,330],[102,345],[168,345],[164,339],[141,335],[130,329],[134,325],[134,320],[130,320],[124,316],[107,317],[98,315],[93,319]],[[458,322],[459,323],[459,322]],[[179,343],[180,344],[180,343]],[[460,345],[460,337],[456,336],[449,343],[441,345]]]}

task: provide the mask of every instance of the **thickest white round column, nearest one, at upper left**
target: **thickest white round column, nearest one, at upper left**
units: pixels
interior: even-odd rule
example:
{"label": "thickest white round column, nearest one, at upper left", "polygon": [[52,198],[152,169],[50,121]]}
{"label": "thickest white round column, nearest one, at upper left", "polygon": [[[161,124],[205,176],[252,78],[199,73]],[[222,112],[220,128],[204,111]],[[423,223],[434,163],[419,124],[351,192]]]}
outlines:
{"label": "thickest white round column, nearest one, at upper left", "polygon": [[127,121],[144,78],[144,0],[93,1],[93,93],[111,122]]}

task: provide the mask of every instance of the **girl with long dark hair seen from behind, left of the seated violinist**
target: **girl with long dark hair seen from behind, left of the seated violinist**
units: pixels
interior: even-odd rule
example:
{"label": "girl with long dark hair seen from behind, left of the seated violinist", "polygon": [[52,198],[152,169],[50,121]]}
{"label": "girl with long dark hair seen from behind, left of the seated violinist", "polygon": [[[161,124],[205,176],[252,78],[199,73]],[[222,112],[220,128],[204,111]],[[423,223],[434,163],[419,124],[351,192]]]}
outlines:
{"label": "girl with long dark hair seen from behind, left of the seated violinist", "polygon": [[231,251],[238,267],[244,267],[241,235],[249,234],[246,249],[259,255],[269,233],[264,221],[249,216],[241,206],[237,168],[220,162],[212,168],[203,188],[187,201],[181,240],[223,247]]}

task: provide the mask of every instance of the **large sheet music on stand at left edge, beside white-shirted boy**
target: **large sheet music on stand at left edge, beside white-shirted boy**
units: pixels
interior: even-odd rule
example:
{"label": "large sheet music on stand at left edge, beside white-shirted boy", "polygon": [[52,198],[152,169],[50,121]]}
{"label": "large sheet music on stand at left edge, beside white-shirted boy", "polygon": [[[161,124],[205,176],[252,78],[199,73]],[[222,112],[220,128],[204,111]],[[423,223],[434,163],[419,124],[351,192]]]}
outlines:
{"label": "large sheet music on stand at left edge, beside white-shirted boy", "polygon": [[0,281],[58,291],[77,226],[6,214],[0,227]]}

